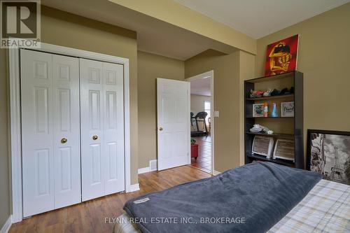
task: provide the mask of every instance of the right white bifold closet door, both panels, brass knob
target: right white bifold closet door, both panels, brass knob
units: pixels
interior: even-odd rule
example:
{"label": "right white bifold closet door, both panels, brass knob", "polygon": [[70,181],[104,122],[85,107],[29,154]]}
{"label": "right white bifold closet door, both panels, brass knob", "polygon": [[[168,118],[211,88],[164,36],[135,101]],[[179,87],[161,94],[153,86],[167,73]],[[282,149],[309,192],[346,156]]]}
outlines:
{"label": "right white bifold closet door, both panels, brass knob", "polygon": [[83,201],[125,190],[123,65],[80,59]]}

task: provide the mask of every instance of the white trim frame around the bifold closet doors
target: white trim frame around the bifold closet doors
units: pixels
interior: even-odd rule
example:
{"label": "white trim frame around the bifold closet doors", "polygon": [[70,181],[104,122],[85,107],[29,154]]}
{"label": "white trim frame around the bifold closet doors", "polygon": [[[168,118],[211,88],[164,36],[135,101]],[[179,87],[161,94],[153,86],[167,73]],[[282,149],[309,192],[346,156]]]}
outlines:
{"label": "white trim frame around the bifold closet doors", "polygon": [[[22,209],[22,129],[21,129],[21,101],[20,101],[20,49],[8,49],[8,74],[10,79],[10,162],[12,188],[12,222],[23,219]],[[78,50],[59,45],[41,43],[41,48],[33,48],[38,52],[50,52],[58,55],[94,59],[101,62],[123,64],[124,67],[124,136],[125,136],[125,192],[139,190],[139,184],[131,185],[130,177],[130,78],[129,59],[104,55],[102,53]]]}

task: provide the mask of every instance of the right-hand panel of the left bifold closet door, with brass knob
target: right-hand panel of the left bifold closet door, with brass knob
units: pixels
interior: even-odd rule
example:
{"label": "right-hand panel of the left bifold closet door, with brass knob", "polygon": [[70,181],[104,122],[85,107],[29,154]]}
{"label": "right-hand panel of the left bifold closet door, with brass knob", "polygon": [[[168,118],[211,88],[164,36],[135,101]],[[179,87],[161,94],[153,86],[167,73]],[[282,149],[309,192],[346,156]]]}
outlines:
{"label": "right-hand panel of the left bifold closet door, with brass knob", "polygon": [[55,208],[81,202],[79,59],[52,55]]}

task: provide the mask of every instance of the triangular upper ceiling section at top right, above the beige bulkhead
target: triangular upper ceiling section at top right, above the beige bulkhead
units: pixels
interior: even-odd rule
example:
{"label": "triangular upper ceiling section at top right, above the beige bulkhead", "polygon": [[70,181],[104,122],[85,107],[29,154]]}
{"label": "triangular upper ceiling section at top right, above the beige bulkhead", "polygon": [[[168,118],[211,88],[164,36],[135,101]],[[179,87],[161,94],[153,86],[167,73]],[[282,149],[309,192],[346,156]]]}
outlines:
{"label": "triangular upper ceiling section at top right, above the beige bulkhead", "polygon": [[350,0],[174,0],[253,38],[261,38]]}

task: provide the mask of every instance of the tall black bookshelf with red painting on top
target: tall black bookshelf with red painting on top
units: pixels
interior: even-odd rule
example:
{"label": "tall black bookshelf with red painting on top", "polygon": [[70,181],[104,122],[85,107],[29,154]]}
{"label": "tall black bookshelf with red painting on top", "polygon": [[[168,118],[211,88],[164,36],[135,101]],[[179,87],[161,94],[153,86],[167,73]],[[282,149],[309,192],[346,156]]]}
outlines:
{"label": "tall black bookshelf with red painting on top", "polygon": [[[293,80],[294,93],[277,95],[272,97],[251,98],[249,97],[250,90],[255,90],[257,83],[263,82],[283,82],[284,78]],[[253,78],[251,80],[244,81],[244,149],[245,149],[245,163],[248,164],[254,160],[269,161],[276,164],[282,164],[288,167],[296,167],[304,169],[304,140],[303,140],[303,73],[300,71],[293,71],[288,73],[281,73],[274,76],[265,76],[261,78]],[[274,99],[288,99],[288,101],[294,101],[294,117],[293,118],[254,118],[253,117],[253,104],[261,103],[262,101],[274,101]],[[280,108],[280,106],[277,106]],[[260,125],[264,125],[264,120],[274,121],[274,124],[283,124],[283,120],[293,120],[293,133],[274,132],[274,134],[263,134],[249,132],[249,129],[253,127],[255,122],[259,120]],[[274,130],[274,129],[272,129]],[[295,144],[295,162],[289,160],[266,158],[262,155],[251,153],[253,145],[253,139],[255,135],[264,135],[274,137],[274,143],[276,139],[293,139]],[[274,145],[275,146],[275,145]]]}

